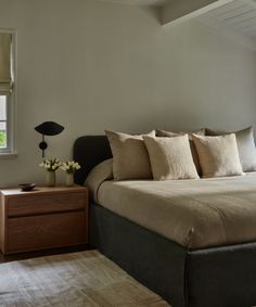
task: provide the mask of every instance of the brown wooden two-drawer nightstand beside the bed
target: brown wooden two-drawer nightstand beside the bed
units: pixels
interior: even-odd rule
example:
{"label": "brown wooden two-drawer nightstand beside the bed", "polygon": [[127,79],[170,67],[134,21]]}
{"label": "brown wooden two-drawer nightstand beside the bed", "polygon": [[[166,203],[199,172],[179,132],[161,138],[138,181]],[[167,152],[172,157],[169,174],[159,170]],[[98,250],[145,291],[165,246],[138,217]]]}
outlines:
{"label": "brown wooden two-drawer nightstand beside the bed", "polygon": [[3,254],[88,243],[87,188],[7,189],[0,196]]}

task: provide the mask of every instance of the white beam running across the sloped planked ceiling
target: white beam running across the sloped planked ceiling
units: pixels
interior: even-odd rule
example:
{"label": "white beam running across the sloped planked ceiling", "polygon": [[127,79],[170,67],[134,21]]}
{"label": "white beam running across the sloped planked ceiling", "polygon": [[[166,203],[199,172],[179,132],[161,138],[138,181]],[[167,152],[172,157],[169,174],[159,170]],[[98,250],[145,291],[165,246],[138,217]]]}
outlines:
{"label": "white beam running across the sloped planked ceiling", "polygon": [[202,15],[234,0],[170,0],[162,7],[162,24],[169,25]]}

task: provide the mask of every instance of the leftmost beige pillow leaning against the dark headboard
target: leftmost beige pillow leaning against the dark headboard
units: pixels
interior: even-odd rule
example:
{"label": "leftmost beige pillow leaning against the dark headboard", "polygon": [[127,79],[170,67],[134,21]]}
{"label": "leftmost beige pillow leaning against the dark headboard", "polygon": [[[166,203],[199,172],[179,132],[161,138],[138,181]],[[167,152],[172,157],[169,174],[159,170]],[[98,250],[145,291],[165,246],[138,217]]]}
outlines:
{"label": "leftmost beige pillow leaning against the dark headboard", "polygon": [[[150,157],[143,141],[143,135],[105,130],[113,154],[114,180],[152,179]],[[146,136],[155,136],[155,131]]]}

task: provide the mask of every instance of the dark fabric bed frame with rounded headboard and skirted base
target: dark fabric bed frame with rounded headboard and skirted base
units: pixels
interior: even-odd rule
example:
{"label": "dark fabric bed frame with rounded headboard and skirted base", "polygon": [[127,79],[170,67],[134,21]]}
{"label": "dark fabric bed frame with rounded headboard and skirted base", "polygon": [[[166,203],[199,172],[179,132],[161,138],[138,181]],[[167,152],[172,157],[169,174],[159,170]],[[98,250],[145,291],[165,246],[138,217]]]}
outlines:
{"label": "dark fabric bed frame with rounded headboard and skirted base", "polygon": [[[82,167],[76,183],[111,156],[104,136],[77,139],[74,159]],[[256,243],[188,251],[92,202],[90,240],[172,307],[256,306]]]}

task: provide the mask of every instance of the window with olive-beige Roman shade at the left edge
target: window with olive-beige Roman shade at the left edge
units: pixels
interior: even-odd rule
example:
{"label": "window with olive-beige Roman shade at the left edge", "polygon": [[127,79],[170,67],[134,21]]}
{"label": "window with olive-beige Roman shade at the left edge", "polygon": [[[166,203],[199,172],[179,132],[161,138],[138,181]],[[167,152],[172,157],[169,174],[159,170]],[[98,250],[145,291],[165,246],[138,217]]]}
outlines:
{"label": "window with olive-beige Roman shade at the left edge", "polygon": [[0,29],[0,156],[15,153],[14,43],[15,33]]}

